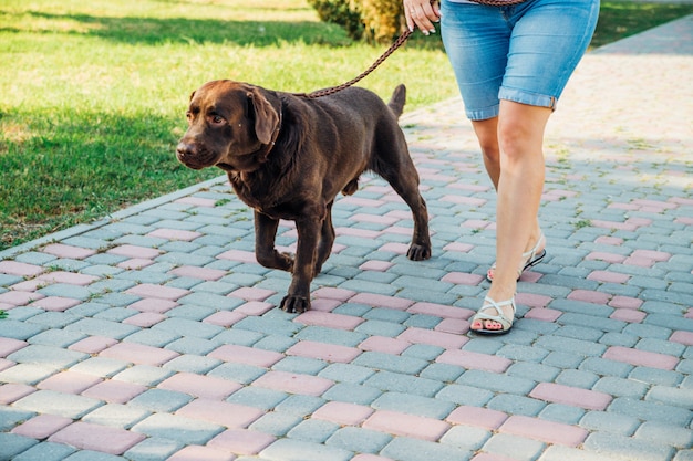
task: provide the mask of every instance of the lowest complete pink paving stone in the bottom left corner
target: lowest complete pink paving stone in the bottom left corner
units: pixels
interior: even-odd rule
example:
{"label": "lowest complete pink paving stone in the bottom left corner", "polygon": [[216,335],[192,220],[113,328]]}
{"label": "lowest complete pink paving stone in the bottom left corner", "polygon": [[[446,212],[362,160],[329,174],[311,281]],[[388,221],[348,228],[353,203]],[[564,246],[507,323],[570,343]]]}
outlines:
{"label": "lowest complete pink paving stone in the bottom left corner", "polygon": [[66,443],[82,450],[122,454],[146,438],[124,429],[108,428],[89,422],[75,422],[55,432],[48,440]]}

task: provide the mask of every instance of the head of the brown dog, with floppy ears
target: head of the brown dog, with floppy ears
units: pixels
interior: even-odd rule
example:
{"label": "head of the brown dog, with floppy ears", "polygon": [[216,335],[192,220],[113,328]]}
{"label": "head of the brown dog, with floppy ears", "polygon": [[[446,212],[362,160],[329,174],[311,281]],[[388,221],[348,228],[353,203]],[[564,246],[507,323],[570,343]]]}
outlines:
{"label": "head of the brown dog, with floppy ears", "polygon": [[252,171],[267,160],[280,124],[280,102],[247,83],[218,80],[190,95],[188,129],[176,148],[193,169]]}

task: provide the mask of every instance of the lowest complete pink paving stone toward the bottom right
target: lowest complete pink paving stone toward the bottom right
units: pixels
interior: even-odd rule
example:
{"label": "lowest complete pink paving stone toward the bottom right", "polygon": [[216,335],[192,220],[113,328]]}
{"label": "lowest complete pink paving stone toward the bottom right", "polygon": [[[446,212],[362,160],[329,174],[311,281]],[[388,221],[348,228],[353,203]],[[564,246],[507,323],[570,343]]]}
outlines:
{"label": "lowest complete pink paving stone toward the bottom right", "polygon": [[588,436],[587,430],[577,426],[568,426],[526,416],[511,416],[499,428],[499,431],[568,447],[580,446]]}

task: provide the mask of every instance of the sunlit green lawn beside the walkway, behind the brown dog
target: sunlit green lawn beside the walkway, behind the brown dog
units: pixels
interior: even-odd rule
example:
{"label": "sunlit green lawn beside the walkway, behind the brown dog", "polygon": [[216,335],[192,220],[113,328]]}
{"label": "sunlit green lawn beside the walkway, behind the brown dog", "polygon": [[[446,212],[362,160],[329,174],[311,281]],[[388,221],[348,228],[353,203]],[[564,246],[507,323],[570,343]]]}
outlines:
{"label": "sunlit green lawn beside the walkway, behind the brown dog", "polygon": [[[653,11],[651,27],[668,7],[604,8],[638,24]],[[693,12],[666,11],[682,8]],[[597,38],[635,29],[602,19]],[[383,51],[319,22],[304,0],[0,0],[0,250],[220,175],[174,155],[204,82],[310,92]],[[456,95],[437,34],[416,34],[360,85],[387,98],[399,83],[408,111]]]}

